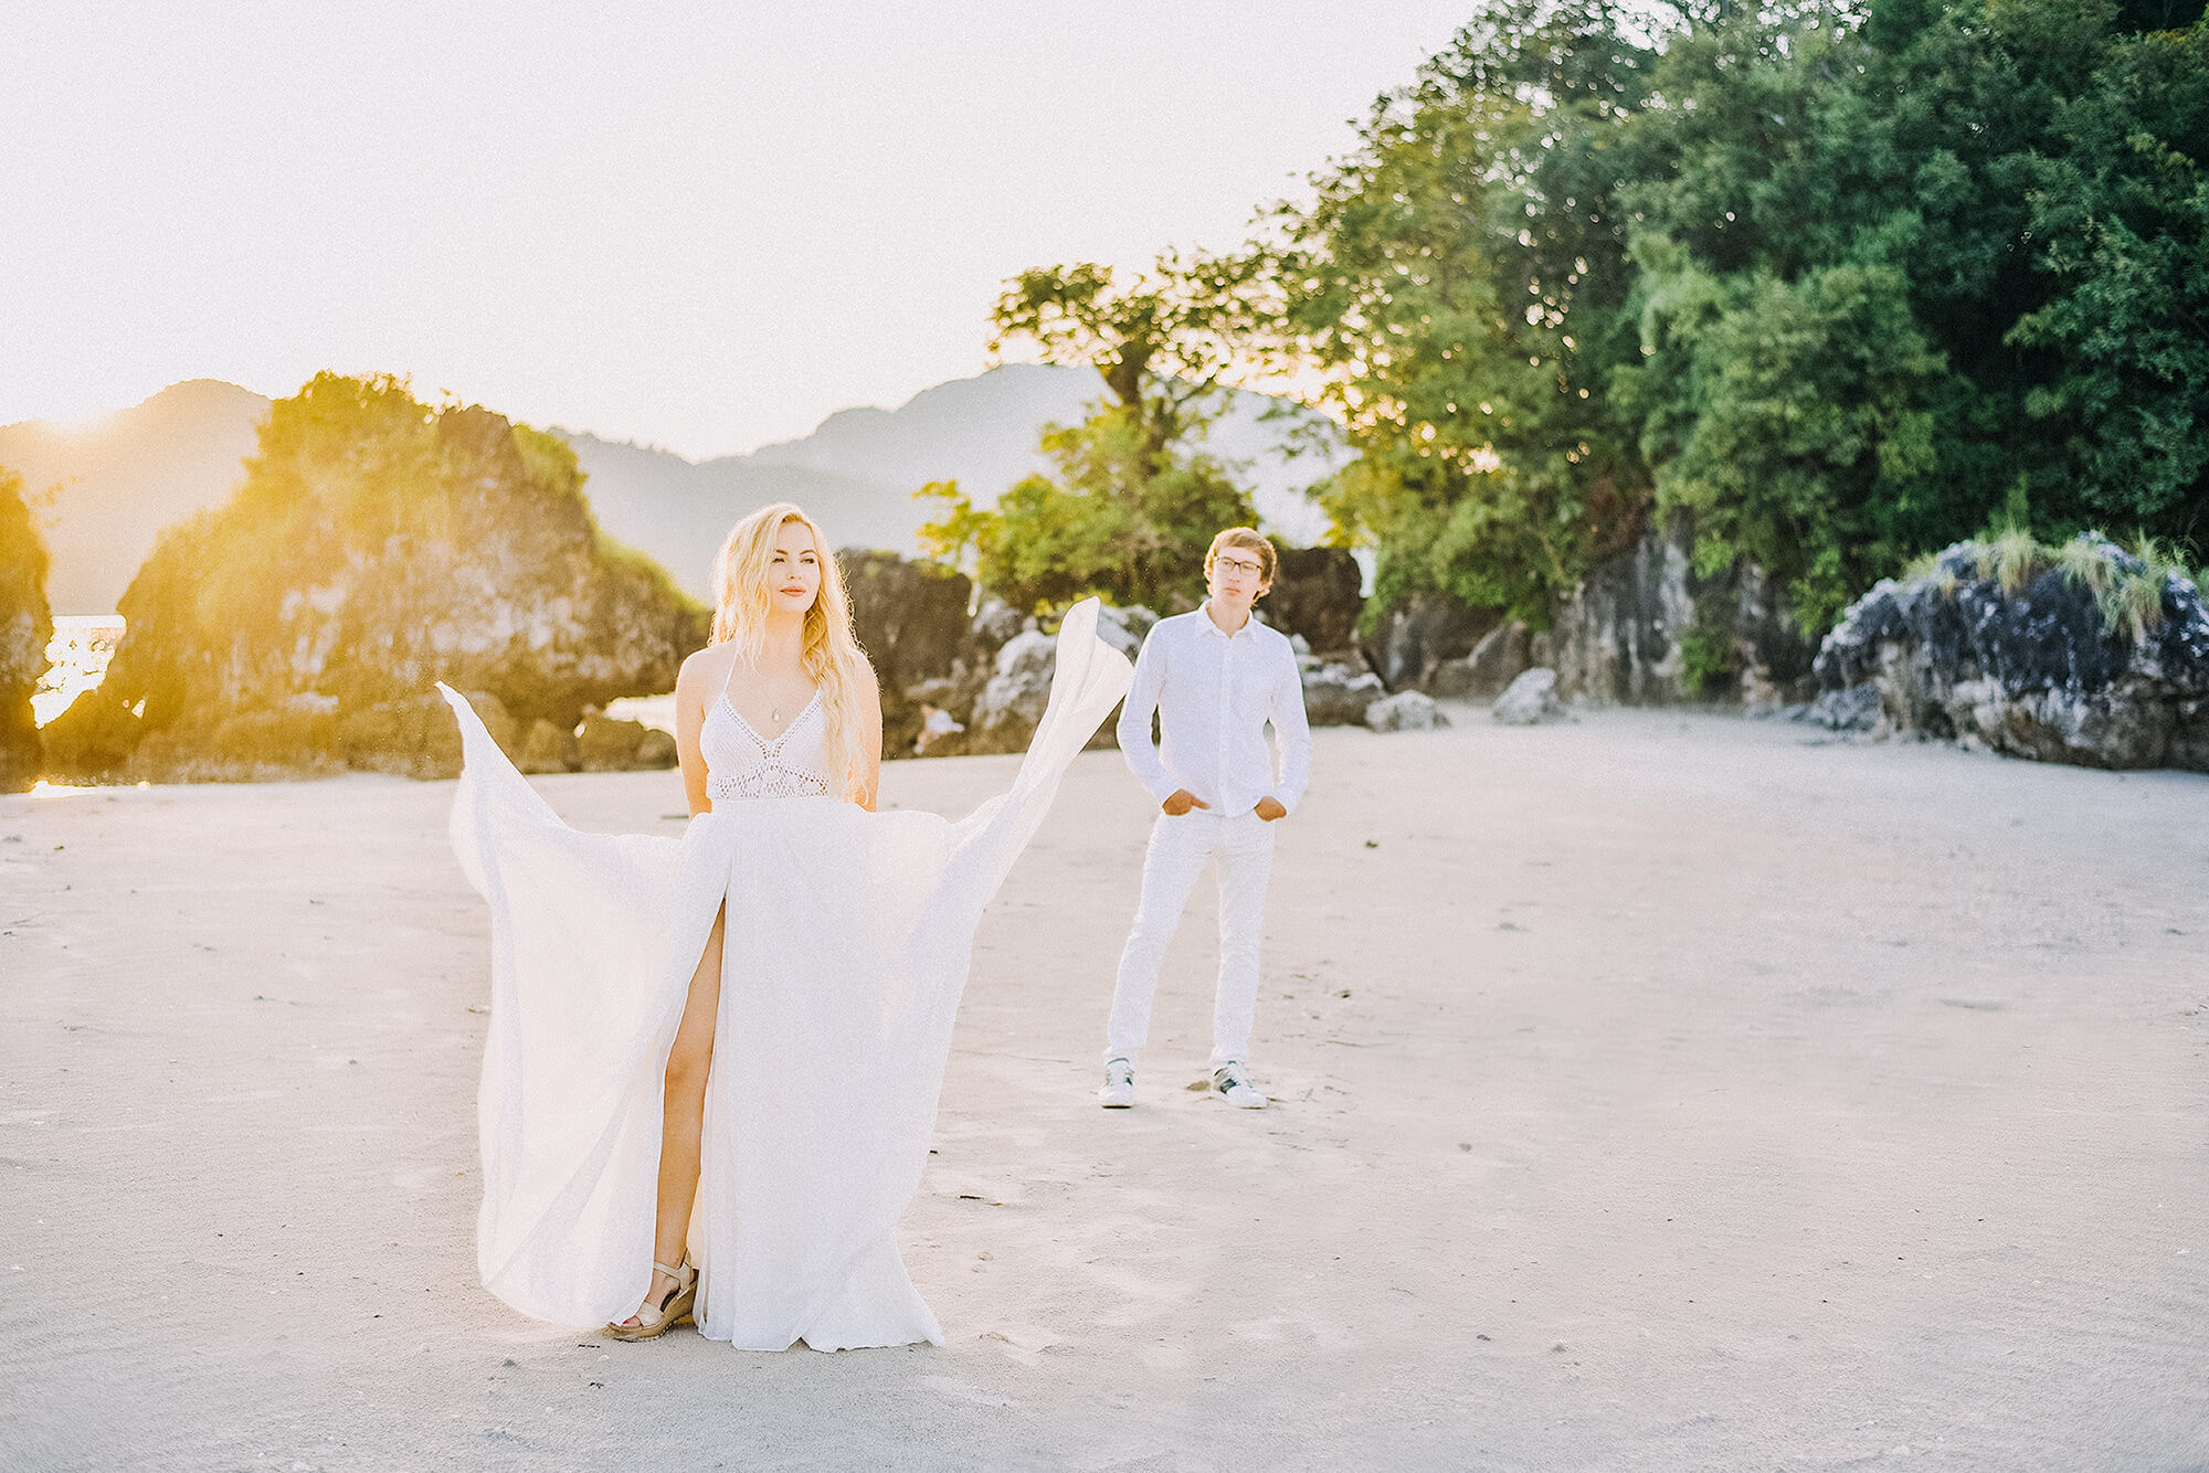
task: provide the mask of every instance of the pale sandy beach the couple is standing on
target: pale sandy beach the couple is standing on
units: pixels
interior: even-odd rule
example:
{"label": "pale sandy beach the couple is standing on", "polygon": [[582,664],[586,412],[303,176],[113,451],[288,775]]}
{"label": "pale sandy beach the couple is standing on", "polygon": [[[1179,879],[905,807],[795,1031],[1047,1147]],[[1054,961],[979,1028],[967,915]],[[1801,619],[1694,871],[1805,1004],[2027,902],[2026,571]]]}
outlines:
{"label": "pale sandy beach the couple is standing on", "polygon": [[1317,738],[1264,1113],[1186,1089],[1206,888],[1096,1109],[1149,804],[1076,762],[903,1221],[950,1343],[839,1356],[477,1287],[451,784],[0,799],[0,1464],[2209,1466],[2209,777],[1456,718]]}

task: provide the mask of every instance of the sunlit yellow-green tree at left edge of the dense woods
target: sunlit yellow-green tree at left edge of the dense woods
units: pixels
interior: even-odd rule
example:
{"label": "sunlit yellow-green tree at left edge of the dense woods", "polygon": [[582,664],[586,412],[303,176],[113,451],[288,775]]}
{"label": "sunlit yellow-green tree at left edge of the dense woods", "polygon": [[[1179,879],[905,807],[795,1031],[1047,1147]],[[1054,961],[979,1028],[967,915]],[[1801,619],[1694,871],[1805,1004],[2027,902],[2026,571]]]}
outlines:
{"label": "sunlit yellow-green tree at left edge of the dense woods", "polygon": [[1378,548],[1370,610],[1445,590],[1540,625],[1639,530],[1648,473],[1602,391],[1635,342],[1617,194],[1650,62],[1619,4],[1495,4],[1270,214],[1244,298],[1270,294],[1259,340],[1359,453],[1321,499]]}

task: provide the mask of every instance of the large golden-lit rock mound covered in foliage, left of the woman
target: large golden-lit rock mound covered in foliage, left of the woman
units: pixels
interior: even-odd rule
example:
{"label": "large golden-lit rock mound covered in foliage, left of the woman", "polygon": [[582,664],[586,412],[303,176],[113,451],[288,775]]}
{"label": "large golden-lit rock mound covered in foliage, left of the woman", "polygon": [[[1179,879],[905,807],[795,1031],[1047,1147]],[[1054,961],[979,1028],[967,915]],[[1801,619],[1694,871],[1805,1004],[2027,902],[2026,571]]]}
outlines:
{"label": "large golden-lit rock mound covered in foliage, left of the woman", "polygon": [[517,755],[537,722],[559,746],[588,709],[672,689],[707,612],[599,532],[581,481],[566,444],[486,409],[316,378],[272,406],[236,497],[161,534],[57,760],[159,782],[448,775],[433,680]]}

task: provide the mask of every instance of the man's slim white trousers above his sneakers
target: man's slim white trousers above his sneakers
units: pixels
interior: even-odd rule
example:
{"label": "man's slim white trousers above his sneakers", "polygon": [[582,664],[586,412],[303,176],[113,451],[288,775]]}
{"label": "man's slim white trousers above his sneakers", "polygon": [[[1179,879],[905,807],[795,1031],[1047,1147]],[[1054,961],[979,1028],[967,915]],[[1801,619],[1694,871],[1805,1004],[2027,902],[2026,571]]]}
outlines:
{"label": "man's slim white trousers above his sneakers", "polygon": [[1166,943],[1182,923],[1204,861],[1219,866],[1219,992],[1213,998],[1213,1067],[1248,1062],[1257,1014],[1257,950],[1266,925],[1266,879],[1272,875],[1272,824],[1257,813],[1219,817],[1191,808],[1158,815],[1142,857],[1142,901],[1120,952],[1120,981],[1104,1025],[1104,1058],[1131,1064],[1151,1036],[1151,996]]}

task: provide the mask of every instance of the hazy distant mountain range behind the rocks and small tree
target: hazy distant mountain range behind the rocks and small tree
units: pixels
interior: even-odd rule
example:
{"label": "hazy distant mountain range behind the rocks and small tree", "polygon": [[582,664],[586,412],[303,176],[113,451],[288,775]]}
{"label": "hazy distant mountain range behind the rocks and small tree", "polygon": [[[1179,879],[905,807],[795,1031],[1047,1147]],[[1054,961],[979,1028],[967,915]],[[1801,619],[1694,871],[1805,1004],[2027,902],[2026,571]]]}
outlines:
{"label": "hazy distant mountain range behind the rocks and small tree", "polygon": [[[769,501],[797,501],[839,548],[910,557],[930,517],[915,490],[956,479],[976,506],[994,506],[1043,468],[1043,426],[1078,422],[1100,389],[1089,369],[1005,364],[923,389],[895,411],[844,409],[804,439],[707,462],[588,431],[554,433],[590,475],[583,490],[599,523],[705,598],[729,526]],[[55,612],[113,610],[159,528],[225,501],[245,477],[241,462],[267,404],[236,384],[192,380],[84,431],[35,420],[0,428],[0,466],[22,473],[33,492],[64,484],[46,519]],[[1237,395],[1208,448],[1244,462],[1261,526],[1306,543],[1325,519],[1301,488],[1332,462],[1281,453],[1288,422],[1261,420],[1277,404],[1286,402]]]}

